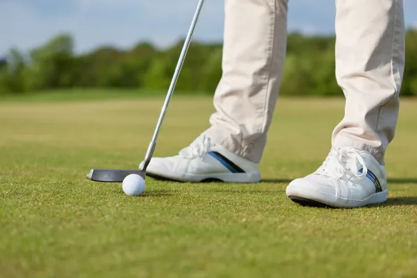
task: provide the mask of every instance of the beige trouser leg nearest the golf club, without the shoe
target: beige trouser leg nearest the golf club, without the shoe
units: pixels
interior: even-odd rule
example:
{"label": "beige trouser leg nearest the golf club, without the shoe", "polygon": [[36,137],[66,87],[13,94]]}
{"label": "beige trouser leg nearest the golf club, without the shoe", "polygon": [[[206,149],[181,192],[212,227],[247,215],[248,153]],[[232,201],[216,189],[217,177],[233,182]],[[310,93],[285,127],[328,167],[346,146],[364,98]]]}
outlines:
{"label": "beige trouser leg nearest the golf club, without the shoe", "polygon": [[222,79],[207,136],[259,163],[286,55],[286,0],[225,0]]}

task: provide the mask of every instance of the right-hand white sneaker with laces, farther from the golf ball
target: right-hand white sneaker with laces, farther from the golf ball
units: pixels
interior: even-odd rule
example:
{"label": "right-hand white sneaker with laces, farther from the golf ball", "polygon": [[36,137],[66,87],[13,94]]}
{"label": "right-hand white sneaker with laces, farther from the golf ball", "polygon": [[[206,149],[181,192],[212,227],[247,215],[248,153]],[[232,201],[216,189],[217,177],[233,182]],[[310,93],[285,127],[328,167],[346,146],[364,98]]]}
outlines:
{"label": "right-hand white sneaker with laces, farther from the golf ball", "polygon": [[384,203],[388,197],[385,167],[368,152],[332,149],[316,172],[291,181],[286,195],[308,206],[355,208]]}

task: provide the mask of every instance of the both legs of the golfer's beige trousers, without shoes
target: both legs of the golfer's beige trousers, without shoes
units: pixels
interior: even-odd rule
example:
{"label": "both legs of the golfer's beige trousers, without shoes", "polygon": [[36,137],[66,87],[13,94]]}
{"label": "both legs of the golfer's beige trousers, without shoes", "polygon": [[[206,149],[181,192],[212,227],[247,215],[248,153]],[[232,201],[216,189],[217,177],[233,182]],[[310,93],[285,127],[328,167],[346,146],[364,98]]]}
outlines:
{"label": "both legs of the golfer's beige trousers, without shoes", "polygon": [[[223,75],[204,133],[259,163],[286,55],[287,1],[224,2]],[[336,79],[346,104],[334,147],[367,150],[384,164],[398,119],[404,33],[402,0],[336,0]]]}

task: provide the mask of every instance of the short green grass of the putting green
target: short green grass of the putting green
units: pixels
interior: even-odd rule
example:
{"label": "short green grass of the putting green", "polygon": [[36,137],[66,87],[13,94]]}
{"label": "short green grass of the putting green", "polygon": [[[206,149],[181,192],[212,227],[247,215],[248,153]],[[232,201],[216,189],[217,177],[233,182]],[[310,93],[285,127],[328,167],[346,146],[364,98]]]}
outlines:
{"label": "short green grass of the putting green", "polygon": [[[358,209],[285,195],[327,156],[343,99],[279,99],[261,183],[147,179],[140,197],[85,174],[137,168],[163,98],[63,100],[0,103],[0,277],[417,277],[416,100],[386,155],[389,201]],[[209,97],[174,96],[155,155],[212,112]]]}

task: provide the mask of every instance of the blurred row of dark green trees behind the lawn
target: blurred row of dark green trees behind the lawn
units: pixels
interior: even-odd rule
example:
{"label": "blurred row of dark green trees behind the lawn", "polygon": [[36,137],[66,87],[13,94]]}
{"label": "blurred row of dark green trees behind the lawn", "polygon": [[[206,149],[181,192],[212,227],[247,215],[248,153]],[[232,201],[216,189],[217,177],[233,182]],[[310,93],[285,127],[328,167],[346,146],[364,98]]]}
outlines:
{"label": "blurred row of dark green trees behind the lawn", "polygon": [[[334,36],[288,35],[281,95],[341,95],[334,76]],[[143,88],[166,91],[183,42],[158,49],[140,42],[131,49],[103,46],[74,53],[74,40],[60,34],[0,59],[0,95],[67,88]],[[213,94],[222,75],[222,44],[193,42],[176,90]],[[64,92],[64,91],[63,91]],[[417,31],[408,30],[402,95],[417,96]]]}

